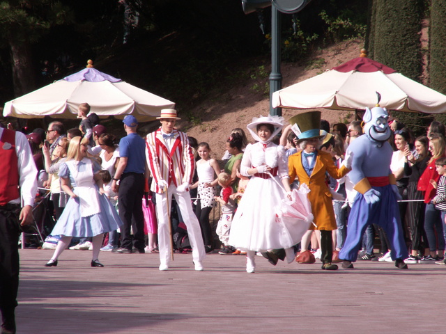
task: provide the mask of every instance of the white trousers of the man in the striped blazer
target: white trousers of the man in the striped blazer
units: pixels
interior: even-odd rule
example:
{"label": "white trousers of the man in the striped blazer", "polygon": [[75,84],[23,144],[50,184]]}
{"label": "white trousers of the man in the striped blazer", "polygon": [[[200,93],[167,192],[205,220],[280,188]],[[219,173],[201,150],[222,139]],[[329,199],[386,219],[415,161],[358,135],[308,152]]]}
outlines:
{"label": "white trousers of the man in the striped blazer", "polygon": [[[172,195],[180,207],[181,216],[187,228],[190,246],[192,246],[192,260],[201,261],[206,257],[204,250],[203,237],[201,237],[200,223],[192,209],[189,191],[179,193],[176,191],[175,184],[171,184],[164,193],[156,193],[156,218],[158,221],[158,247],[160,249],[161,264],[169,265],[170,262],[170,238],[169,233],[169,214],[167,211],[167,200],[169,200],[169,210],[172,204]],[[169,197],[169,198],[168,198]]]}

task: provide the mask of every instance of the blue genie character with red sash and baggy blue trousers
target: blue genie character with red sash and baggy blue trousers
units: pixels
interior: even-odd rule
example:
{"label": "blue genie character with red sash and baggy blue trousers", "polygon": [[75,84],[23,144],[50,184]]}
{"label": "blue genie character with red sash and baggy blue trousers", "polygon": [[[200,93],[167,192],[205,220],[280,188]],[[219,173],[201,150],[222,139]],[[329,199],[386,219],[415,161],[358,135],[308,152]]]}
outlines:
{"label": "blue genie character with red sash and baggy blue trousers", "polygon": [[353,156],[352,170],[348,176],[358,193],[348,216],[347,238],[339,251],[339,259],[344,260],[344,269],[353,268],[352,262],[356,261],[361,237],[370,224],[379,225],[387,233],[395,267],[407,269],[403,259],[408,257],[408,250],[397,203],[400,196],[390,170],[393,150],[387,142],[391,135],[387,118],[387,110],[380,108],[379,104],[371,110],[367,108],[363,118],[365,135],[355,139],[346,153],[346,157]]}

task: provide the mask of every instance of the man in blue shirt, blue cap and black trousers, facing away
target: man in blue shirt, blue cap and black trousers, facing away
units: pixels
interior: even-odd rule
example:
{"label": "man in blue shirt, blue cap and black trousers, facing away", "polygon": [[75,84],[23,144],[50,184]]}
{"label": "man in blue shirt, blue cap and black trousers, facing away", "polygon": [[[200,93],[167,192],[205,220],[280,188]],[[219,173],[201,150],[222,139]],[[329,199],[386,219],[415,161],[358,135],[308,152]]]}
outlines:
{"label": "man in blue shirt, blue cap and black trousers, facing away", "polygon": [[[125,116],[124,129],[127,136],[119,142],[119,162],[112,180],[112,189],[118,193],[121,226],[121,248],[117,253],[144,253],[144,172],[146,170],[146,143],[137,134],[138,121],[134,116]],[[117,184],[119,180],[119,184]],[[133,240],[130,235],[133,228]]]}

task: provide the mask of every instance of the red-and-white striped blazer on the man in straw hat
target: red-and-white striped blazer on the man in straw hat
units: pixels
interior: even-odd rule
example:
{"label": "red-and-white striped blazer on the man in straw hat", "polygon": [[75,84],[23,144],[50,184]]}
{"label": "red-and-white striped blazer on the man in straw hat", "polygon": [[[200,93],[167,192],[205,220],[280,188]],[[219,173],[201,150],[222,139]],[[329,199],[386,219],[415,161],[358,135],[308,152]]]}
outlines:
{"label": "red-and-white striped blazer on the man in straw hat", "polygon": [[195,160],[187,134],[174,129],[172,141],[174,145],[169,152],[161,128],[146,136],[146,159],[153,177],[151,191],[155,193],[161,192],[157,185],[159,180],[179,186],[184,182],[192,183],[194,177]]}

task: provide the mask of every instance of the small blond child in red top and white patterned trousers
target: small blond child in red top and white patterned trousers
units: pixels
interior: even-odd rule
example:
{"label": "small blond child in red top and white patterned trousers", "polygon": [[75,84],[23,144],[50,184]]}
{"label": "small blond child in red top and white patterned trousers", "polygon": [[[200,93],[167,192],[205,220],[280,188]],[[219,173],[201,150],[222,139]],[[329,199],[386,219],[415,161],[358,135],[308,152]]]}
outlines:
{"label": "small blond child in red top and white patterned trousers", "polygon": [[222,241],[224,248],[218,252],[221,255],[232,254],[234,249],[229,246],[229,231],[231,230],[231,223],[233,213],[236,211],[236,202],[231,198],[231,175],[228,173],[220,173],[217,177],[218,184],[222,186],[220,196],[215,196],[215,200],[222,205],[222,216],[217,224],[217,235]]}

